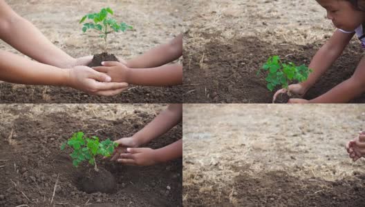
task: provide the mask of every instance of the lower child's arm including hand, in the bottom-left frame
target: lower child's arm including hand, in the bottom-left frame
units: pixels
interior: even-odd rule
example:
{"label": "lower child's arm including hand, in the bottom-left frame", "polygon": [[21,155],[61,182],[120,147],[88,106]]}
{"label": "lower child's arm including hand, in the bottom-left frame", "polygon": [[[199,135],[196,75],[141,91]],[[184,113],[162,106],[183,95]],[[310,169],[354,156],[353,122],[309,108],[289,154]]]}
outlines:
{"label": "lower child's arm including hand, in the bottom-left frame", "polygon": [[117,161],[121,164],[133,166],[151,166],[182,157],[182,139],[160,149],[127,148]]}

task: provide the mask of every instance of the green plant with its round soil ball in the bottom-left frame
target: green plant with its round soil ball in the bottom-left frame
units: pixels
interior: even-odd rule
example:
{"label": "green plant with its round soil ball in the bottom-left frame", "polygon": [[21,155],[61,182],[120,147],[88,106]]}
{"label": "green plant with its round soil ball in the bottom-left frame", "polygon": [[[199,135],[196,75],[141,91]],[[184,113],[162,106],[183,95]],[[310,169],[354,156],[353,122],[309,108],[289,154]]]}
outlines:
{"label": "green plant with its round soil ball in the bottom-left frame", "polygon": [[77,188],[86,193],[111,193],[115,188],[115,178],[108,170],[97,168],[95,157],[101,155],[110,157],[114,148],[118,144],[110,139],[99,141],[98,137],[86,137],[84,132],[76,132],[68,141],[61,146],[64,150],[66,146],[73,149],[70,154],[73,159],[73,166],[78,167],[83,161],[88,161],[95,170],[84,170],[77,178]]}

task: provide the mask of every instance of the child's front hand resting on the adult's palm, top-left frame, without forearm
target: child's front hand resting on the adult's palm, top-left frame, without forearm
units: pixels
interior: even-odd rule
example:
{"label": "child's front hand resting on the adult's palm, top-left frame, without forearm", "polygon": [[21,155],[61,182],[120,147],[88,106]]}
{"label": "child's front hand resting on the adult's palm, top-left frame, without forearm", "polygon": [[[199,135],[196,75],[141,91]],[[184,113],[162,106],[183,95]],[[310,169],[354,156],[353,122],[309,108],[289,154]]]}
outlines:
{"label": "child's front hand resting on the adult's palm, top-left frame, without forearm", "polygon": [[114,82],[128,82],[129,68],[117,61],[104,61],[103,66],[95,67],[94,70],[104,72]]}

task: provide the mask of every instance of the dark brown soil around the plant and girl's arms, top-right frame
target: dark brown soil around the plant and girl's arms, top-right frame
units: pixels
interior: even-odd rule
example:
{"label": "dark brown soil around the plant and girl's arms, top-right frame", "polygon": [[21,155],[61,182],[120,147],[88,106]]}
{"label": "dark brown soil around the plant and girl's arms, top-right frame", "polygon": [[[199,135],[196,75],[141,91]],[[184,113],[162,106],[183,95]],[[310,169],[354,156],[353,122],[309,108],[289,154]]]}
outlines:
{"label": "dark brown soil around the plant and girl's arms, top-right frame", "polygon": [[[279,55],[282,59],[308,66],[315,52],[326,41],[306,46],[293,43],[275,45],[258,37],[236,37],[222,42],[218,40],[220,36],[203,34],[205,39],[211,40],[201,47],[203,49],[184,46],[184,103],[272,103],[277,90],[270,92],[266,88],[265,76],[256,75],[268,57]],[[184,38],[191,38],[189,32]],[[360,43],[352,41],[303,98],[318,97],[350,78],[362,58],[362,52]],[[350,103],[365,103],[365,95]]]}

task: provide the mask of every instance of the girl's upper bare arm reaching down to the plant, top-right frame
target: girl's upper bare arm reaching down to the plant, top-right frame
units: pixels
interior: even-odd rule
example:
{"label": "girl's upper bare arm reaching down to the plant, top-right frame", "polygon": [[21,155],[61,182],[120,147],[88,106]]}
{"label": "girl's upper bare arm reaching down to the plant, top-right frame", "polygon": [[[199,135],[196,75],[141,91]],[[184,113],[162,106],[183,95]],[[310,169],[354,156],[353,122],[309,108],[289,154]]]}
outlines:
{"label": "girl's upper bare arm reaching down to the plant, top-right frame", "polygon": [[[307,81],[292,84],[289,86],[289,90],[298,95],[305,95],[309,88],[316,83],[319,77],[321,77],[321,75],[330,68],[333,62],[335,62],[339,55],[341,55],[353,35],[354,33],[348,34],[336,30],[333,36],[317,51],[316,55],[312,58],[312,61],[310,61],[308,68],[311,68],[313,72],[310,73]],[[274,95],[274,99],[281,92],[286,91],[283,89],[278,90]]]}

